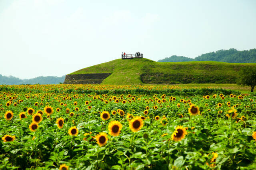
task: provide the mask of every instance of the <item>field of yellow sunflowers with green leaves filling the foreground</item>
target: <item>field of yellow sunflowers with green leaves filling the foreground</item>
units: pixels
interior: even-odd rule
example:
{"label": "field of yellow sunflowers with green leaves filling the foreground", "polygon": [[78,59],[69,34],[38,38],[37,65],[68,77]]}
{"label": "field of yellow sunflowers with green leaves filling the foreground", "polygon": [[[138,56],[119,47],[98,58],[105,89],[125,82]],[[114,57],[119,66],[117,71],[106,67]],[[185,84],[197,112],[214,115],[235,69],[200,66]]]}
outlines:
{"label": "field of yellow sunflowers with green leaves filling the foreground", "polygon": [[256,169],[256,97],[176,86],[0,86],[0,169]]}

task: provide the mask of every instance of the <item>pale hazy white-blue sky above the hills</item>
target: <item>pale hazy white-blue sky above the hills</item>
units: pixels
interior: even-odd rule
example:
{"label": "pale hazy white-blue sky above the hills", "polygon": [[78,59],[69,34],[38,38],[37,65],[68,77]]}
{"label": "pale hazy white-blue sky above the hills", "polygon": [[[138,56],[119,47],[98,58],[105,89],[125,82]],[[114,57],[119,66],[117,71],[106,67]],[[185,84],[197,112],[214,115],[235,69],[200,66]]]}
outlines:
{"label": "pale hazy white-blue sky above the hills", "polygon": [[0,0],[0,74],[62,76],[140,51],[256,48],[256,0]]}

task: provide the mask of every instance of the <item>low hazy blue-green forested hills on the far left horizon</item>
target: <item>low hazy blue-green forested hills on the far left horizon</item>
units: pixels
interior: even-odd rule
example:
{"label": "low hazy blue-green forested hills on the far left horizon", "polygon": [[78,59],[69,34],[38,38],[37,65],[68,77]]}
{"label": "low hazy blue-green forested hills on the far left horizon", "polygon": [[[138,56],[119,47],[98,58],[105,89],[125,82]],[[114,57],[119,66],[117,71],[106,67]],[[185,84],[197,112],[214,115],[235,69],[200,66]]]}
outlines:
{"label": "low hazy blue-green forested hills on the far left horizon", "polygon": [[59,84],[60,82],[63,83],[65,80],[65,76],[56,77],[56,76],[40,76],[31,79],[20,79],[14,76],[2,76],[0,74],[0,84],[5,85],[19,85],[19,84]]}

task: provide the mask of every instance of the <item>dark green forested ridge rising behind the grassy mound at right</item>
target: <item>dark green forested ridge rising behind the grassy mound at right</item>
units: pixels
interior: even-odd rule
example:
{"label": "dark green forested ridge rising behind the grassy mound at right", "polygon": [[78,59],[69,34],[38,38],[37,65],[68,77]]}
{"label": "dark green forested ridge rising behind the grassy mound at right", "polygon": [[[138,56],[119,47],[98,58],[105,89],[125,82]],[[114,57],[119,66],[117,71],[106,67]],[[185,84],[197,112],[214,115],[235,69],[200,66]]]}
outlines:
{"label": "dark green forested ridge rising behind the grassy mound at right", "polygon": [[195,59],[173,55],[158,62],[178,61],[221,61],[226,63],[256,63],[256,49],[237,51],[236,49],[218,50],[212,53],[202,54]]}

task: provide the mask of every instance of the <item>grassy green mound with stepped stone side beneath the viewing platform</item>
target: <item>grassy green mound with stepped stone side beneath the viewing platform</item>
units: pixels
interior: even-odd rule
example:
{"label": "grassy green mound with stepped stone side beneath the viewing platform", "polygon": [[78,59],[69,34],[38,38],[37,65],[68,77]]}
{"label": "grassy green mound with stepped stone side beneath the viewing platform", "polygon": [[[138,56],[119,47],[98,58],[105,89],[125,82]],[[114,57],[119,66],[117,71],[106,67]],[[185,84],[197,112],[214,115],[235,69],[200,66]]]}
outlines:
{"label": "grassy green mound with stepped stone side beneath the viewing platform", "polygon": [[117,59],[68,74],[64,83],[86,84],[96,82],[116,85],[236,83],[239,70],[243,66],[256,66],[256,64],[215,61],[161,63],[145,58]]}

